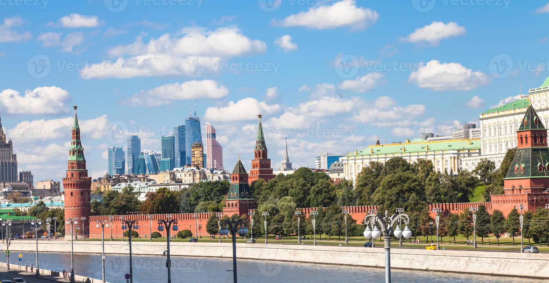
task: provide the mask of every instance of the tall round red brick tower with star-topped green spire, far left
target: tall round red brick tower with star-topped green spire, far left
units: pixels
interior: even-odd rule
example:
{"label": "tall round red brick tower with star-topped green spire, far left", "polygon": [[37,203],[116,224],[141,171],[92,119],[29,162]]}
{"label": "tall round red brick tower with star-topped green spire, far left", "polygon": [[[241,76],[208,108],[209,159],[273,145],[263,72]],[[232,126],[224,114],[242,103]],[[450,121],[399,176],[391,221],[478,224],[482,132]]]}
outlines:
{"label": "tall round red brick tower with star-topped green spire, far left", "polygon": [[[69,148],[69,160],[67,162],[66,177],[63,178],[63,189],[65,193],[65,219],[78,217],[78,224],[73,226],[73,235],[89,235],[89,216],[92,213],[90,195],[92,178],[88,177],[86,170],[86,159],[84,148],[80,141],[80,127],[76,117],[76,105],[74,106],[74,122],[72,123],[72,138]],[[86,220],[80,220],[86,217]],[[84,230],[82,231],[82,225]],[[76,226],[80,228],[76,232]],[[70,225],[65,225],[65,237],[70,239]]]}

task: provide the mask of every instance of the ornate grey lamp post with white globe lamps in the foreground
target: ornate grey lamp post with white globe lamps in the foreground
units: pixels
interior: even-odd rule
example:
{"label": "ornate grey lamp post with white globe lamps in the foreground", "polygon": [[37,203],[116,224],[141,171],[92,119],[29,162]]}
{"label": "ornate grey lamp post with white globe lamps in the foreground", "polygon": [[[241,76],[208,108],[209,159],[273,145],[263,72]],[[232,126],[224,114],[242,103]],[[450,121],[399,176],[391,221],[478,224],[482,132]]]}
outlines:
{"label": "ornate grey lamp post with white globe lamps in the foreground", "polygon": [[380,238],[380,236],[383,233],[383,239],[385,242],[385,283],[391,282],[391,232],[395,235],[397,239],[400,239],[402,236],[404,236],[405,239],[410,239],[412,236],[412,231],[408,229],[408,226],[404,228],[404,230],[400,229],[400,226],[397,225],[396,229],[393,231],[393,226],[395,226],[395,223],[399,220],[404,220],[405,224],[410,223],[410,217],[406,215],[405,213],[395,213],[393,216],[389,217],[389,212],[385,210],[385,216],[382,216],[380,214],[369,214],[365,217],[365,222],[368,218],[372,218],[373,222],[379,225],[381,230],[379,230],[374,224],[374,229],[370,230],[369,227],[366,227],[366,230],[364,231],[364,236],[366,238],[370,238],[371,236],[374,239]]}

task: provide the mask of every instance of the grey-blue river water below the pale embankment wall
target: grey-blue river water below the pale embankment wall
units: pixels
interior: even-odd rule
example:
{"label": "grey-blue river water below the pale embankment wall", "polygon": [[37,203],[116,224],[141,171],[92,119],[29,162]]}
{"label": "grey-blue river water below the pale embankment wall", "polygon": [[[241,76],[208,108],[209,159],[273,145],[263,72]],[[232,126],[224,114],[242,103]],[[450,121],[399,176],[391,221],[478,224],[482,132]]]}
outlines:
{"label": "grey-blue river water below the pale embankment wall", "polygon": [[[18,261],[19,252],[12,252],[12,263],[36,263],[36,254],[22,252],[23,262]],[[70,270],[70,253],[45,253],[39,255],[40,268]],[[171,257],[173,283],[180,282],[232,282],[232,258]],[[135,283],[167,282],[166,257],[133,256],[133,281]],[[314,261],[311,258],[311,262]],[[313,264],[307,262],[238,260],[240,282],[384,282],[383,268],[351,267],[346,265]],[[518,268],[518,267],[514,267]],[[92,278],[102,278],[99,255],[75,254],[75,273]],[[128,255],[107,255],[105,280],[124,283],[124,275],[130,272]],[[520,279],[503,276],[469,275],[458,273],[424,272],[415,270],[391,270],[393,282],[547,282],[535,279]]]}

